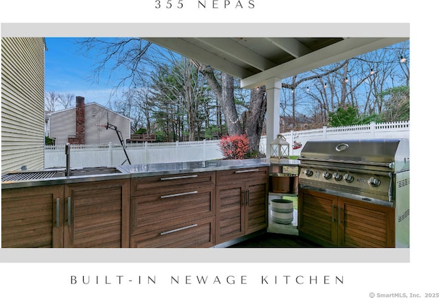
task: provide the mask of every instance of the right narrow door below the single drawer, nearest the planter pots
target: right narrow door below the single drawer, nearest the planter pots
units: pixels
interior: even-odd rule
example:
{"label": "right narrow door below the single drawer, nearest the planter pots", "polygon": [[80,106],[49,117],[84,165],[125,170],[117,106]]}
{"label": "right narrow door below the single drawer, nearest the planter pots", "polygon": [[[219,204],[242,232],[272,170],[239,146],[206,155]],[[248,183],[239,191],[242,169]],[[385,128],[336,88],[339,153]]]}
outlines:
{"label": "right narrow door below the single drawer, nearest the planter pots", "polygon": [[245,234],[268,227],[268,180],[246,182]]}

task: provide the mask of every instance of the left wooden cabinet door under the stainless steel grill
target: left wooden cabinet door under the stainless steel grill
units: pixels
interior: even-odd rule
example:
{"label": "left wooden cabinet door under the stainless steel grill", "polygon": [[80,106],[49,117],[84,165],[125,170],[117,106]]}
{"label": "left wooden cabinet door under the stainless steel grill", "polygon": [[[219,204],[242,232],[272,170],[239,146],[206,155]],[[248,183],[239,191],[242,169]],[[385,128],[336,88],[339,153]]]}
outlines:
{"label": "left wooden cabinet door under the stainless steel grill", "polygon": [[298,197],[298,229],[317,243],[337,245],[337,197],[302,190]]}

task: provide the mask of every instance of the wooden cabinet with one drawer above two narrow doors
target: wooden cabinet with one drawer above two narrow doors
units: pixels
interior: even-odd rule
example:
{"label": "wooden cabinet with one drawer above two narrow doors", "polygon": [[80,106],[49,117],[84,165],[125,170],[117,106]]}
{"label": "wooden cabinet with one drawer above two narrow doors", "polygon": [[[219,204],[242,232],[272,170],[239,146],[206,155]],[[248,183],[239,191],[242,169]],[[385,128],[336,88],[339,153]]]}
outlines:
{"label": "wooden cabinet with one drawer above two narrow doors", "polygon": [[216,244],[268,226],[268,167],[217,172]]}

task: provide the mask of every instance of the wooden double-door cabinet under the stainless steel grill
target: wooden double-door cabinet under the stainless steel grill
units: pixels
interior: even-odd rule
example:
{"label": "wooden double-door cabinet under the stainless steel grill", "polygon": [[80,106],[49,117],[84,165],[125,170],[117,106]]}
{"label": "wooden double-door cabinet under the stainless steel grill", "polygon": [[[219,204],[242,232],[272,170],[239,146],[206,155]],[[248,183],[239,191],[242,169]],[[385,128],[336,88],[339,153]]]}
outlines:
{"label": "wooden double-door cabinet under the stainless steel grill", "polygon": [[394,208],[314,190],[298,197],[300,236],[327,247],[394,247]]}

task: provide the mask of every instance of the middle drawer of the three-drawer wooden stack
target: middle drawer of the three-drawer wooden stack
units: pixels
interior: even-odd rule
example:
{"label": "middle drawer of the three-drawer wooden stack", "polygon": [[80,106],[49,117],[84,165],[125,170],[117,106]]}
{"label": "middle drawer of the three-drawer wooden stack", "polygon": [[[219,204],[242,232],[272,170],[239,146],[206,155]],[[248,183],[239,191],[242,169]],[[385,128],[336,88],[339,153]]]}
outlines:
{"label": "middle drawer of the three-drawer wooden stack", "polygon": [[215,215],[215,186],[132,197],[131,235]]}

